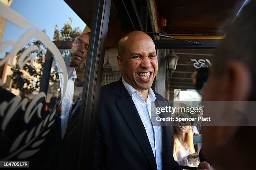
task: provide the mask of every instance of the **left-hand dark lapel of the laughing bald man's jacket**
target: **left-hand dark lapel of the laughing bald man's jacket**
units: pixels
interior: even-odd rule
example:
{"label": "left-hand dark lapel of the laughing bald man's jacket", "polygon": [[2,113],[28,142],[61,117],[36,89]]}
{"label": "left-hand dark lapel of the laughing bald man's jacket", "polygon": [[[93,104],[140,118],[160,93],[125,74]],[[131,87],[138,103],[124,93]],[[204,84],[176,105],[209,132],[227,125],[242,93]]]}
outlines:
{"label": "left-hand dark lapel of the laughing bald man's jacket", "polygon": [[123,117],[131,128],[131,131],[133,132],[135,138],[141,146],[151,167],[154,170],[157,170],[156,160],[151,145],[149,143],[146,130],[140,116],[138,115],[136,106],[134,105],[128,91],[125,89],[121,79],[117,83],[115,93],[120,96],[120,99],[116,100],[116,104],[120,112],[122,113]]}

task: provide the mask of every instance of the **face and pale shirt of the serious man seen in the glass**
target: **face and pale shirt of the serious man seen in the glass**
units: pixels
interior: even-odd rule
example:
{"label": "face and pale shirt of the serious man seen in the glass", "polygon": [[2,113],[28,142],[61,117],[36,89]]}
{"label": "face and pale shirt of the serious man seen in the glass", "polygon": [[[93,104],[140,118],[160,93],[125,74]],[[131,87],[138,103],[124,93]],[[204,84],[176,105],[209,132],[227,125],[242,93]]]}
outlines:
{"label": "face and pale shirt of the serious man seen in the glass", "polygon": [[84,67],[86,55],[88,52],[89,39],[89,33],[84,33],[76,37],[76,39],[73,42],[71,49],[71,59],[69,61],[69,66],[71,68],[67,69],[68,81],[66,94],[63,94],[63,75],[59,75],[61,82],[61,95],[65,95],[61,103],[61,138],[64,137],[65,132],[67,130],[67,123],[69,120],[70,112],[72,110],[74,85],[75,80],[77,79],[77,72],[75,68]]}

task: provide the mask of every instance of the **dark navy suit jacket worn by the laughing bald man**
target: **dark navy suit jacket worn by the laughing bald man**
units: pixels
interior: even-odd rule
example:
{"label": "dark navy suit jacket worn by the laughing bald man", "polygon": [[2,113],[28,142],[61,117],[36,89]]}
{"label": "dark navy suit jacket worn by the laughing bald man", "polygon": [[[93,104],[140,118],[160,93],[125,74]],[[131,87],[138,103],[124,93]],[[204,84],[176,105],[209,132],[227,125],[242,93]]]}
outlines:
{"label": "dark navy suit jacket worn by the laughing bald man", "polygon": [[[166,101],[154,93],[157,101]],[[181,170],[173,158],[173,140],[172,126],[162,126],[163,170]],[[94,169],[157,170],[146,130],[121,79],[101,88]]]}

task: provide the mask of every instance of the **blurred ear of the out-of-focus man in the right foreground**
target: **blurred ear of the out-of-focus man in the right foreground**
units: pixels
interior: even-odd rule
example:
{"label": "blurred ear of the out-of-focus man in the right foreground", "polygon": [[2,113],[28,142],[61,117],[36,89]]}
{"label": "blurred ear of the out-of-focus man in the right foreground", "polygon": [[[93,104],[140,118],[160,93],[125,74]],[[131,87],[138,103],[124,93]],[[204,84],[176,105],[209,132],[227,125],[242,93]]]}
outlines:
{"label": "blurred ear of the out-of-focus man in the right foreground", "polygon": [[251,73],[245,64],[238,61],[229,62],[221,79],[225,84],[226,100],[248,100],[251,92]]}

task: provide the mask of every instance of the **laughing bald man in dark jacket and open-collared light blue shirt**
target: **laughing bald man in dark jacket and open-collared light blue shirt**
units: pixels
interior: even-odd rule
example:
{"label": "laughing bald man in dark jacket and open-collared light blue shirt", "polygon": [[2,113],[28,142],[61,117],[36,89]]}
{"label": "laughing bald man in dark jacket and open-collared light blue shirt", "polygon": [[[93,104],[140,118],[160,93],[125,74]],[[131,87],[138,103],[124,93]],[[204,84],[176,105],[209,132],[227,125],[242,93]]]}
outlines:
{"label": "laughing bald man in dark jacket and open-collared light blue shirt", "polygon": [[[181,170],[173,158],[172,126],[152,126],[152,101],[167,101],[151,85],[158,70],[153,40],[141,31],[118,43],[122,78],[101,89],[94,169]],[[208,165],[200,165],[207,169]]]}

